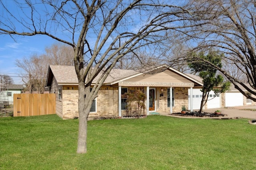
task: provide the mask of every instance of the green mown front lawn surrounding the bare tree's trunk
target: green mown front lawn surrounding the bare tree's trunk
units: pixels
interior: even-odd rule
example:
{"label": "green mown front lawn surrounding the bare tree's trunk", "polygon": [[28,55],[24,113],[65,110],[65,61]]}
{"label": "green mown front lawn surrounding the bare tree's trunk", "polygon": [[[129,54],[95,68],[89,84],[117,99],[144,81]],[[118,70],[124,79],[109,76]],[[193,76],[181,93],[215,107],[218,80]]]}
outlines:
{"label": "green mown front lawn surrounding the bare tree's trunk", "polygon": [[247,119],[88,122],[88,153],[76,154],[78,119],[0,118],[0,170],[256,169],[256,126]]}

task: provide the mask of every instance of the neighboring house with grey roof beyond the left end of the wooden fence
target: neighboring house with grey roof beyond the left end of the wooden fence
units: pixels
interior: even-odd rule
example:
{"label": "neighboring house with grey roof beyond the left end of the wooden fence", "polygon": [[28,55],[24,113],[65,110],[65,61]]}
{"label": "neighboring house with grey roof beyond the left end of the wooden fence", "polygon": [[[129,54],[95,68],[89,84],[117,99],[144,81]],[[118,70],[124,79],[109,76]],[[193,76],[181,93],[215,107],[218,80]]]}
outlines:
{"label": "neighboring house with grey roof beyond the left end of the wooden fence", "polygon": [[21,94],[23,90],[22,84],[9,84],[8,87],[1,93],[1,101],[4,102],[4,105],[13,104],[13,94]]}

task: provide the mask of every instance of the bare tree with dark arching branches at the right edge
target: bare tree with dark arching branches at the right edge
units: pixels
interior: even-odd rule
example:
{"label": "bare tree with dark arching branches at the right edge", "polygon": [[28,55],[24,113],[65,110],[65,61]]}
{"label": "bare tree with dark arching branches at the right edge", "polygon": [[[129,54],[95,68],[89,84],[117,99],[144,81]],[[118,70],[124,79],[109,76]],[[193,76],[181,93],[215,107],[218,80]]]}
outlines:
{"label": "bare tree with dark arching branches at the right edge", "polygon": [[[214,48],[225,54],[223,63],[226,66],[220,68],[195,57],[194,62],[206,66],[210,64],[218,69],[244,96],[256,101],[255,97],[249,96],[238,86],[240,84],[256,95],[255,0],[191,0],[190,7],[193,7],[192,13],[195,15],[188,19],[190,23],[185,24],[197,26],[184,32],[188,35],[186,40],[194,46],[192,50],[207,51]],[[191,56],[188,58],[191,59]],[[245,80],[251,88],[244,84]]]}

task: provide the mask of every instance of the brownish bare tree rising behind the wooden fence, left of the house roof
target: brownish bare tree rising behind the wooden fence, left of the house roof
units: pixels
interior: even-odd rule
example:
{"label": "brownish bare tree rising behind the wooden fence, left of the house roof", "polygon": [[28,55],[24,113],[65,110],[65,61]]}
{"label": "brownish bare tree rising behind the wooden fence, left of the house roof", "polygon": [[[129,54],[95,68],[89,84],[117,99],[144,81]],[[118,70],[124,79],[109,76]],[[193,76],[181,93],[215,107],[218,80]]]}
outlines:
{"label": "brownish bare tree rising behind the wooden fence, left of the house roof", "polygon": [[16,60],[16,65],[22,69],[22,81],[25,90],[44,93],[48,65],[74,65],[74,50],[63,43],[54,43],[45,48],[42,55],[33,54]]}

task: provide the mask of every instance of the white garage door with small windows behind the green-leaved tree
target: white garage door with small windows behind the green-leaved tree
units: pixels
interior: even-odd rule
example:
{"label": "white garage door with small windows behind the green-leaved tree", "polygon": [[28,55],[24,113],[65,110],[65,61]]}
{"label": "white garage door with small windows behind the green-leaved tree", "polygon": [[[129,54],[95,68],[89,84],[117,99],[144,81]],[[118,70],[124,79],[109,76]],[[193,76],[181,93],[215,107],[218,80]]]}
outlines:
{"label": "white garage door with small windows behind the green-leaved tree", "polygon": [[[214,96],[214,92],[211,91],[207,101],[208,109],[220,108],[220,95],[217,95],[215,98]],[[200,109],[201,100],[202,92],[200,89],[193,89],[193,109]],[[190,109],[190,89],[188,90],[188,109]]]}

